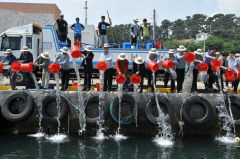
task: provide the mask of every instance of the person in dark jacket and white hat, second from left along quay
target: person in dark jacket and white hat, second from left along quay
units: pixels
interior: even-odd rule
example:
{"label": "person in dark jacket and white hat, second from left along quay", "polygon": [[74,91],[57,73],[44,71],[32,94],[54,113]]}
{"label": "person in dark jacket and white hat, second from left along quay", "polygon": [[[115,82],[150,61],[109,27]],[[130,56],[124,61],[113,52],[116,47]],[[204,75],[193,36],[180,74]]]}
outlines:
{"label": "person in dark jacket and white hat, second from left along quay", "polygon": [[[20,58],[18,59],[19,63],[30,63],[33,62],[33,55],[30,52],[28,46],[24,46]],[[26,89],[34,88],[34,82],[29,72],[23,72],[26,82]]]}

